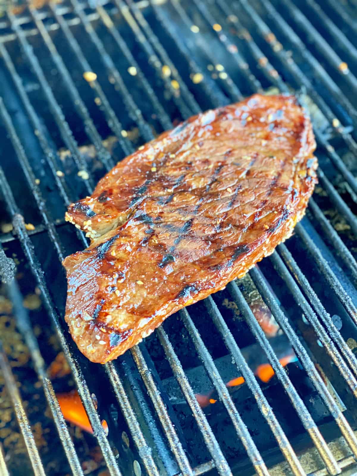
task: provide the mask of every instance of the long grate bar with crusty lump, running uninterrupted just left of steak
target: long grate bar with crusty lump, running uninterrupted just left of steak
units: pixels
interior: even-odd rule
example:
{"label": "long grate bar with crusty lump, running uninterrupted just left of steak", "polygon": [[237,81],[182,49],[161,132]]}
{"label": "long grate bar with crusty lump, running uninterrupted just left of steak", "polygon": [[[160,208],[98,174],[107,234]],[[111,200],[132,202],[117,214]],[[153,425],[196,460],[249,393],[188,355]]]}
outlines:
{"label": "long grate bar with crusty lump, running uninterrupted just left of steak", "polygon": [[60,324],[59,317],[55,311],[54,305],[52,303],[52,299],[50,297],[49,290],[46,286],[46,282],[44,279],[44,273],[41,269],[40,263],[34,253],[34,249],[25,228],[25,224],[23,221],[23,217],[20,215],[20,210],[18,209],[15,200],[12,196],[11,189],[9,184],[0,169],[0,189],[3,194],[4,201],[10,211],[10,215],[12,217],[12,224],[17,234],[21,248],[23,249],[25,256],[30,264],[31,271],[36,279],[37,286],[41,291],[41,297],[43,299],[43,303],[51,317],[53,324],[55,326],[57,335],[60,340],[60,344],[63,348],[63,352],[65,353],[69,366],[72,370],[72,375],[75,379],[77,384],[78,392],[83,402],[83,405],[86,409],[87,415],[89,417],[90,424],[93,428],[94,435],[97,436],[99,446],[101,447],[104,459],[107,463],[107,467],[109,469],[109,473],[111,476],[121,476],[119,468],[116,463],[115,456],[110,448],[107,436],[104,432],[103,427],[100,424],[100,420],[97,414],[97,411],[94,407],[92,398],[90,396],[89,388],[87,386],[86,381],[84,380],[82,373],[76,363],[72,352],[69,349],[66,337],[63,334],[62,326]]}

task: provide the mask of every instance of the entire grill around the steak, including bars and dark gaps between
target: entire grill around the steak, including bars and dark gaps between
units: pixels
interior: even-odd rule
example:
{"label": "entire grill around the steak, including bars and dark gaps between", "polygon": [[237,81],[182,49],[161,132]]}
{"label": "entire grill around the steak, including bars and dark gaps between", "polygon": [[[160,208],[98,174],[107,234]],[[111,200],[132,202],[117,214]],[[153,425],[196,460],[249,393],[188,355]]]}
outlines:
{"label": "entire grill around the steak, including bars and dark gaps between", "polygon": [[[316,475],[354,464],[356,11],[353,0],[69,0],[0,18],[1,474],[268,475],[285,457],[304,475],[297,455],[312,445],[327,468]],[[320,165],[294,236],[124,356],[91,364],[63,319],[61,261],[87,246],[66,206],[162,130],[278,90],[310,110]],[[286,337],[258,325],[259,294]],[[285,368],[279,338],[298,359]],[[60,351],[70,374],[49,378]],[[265,362],[268,383],[254,376]],[[73,388],[94,437],[61,414],[55,393]],[[209,391],[217,402],[201,408],[195,394]],[[341,435],[337,461],[327,443]]]}

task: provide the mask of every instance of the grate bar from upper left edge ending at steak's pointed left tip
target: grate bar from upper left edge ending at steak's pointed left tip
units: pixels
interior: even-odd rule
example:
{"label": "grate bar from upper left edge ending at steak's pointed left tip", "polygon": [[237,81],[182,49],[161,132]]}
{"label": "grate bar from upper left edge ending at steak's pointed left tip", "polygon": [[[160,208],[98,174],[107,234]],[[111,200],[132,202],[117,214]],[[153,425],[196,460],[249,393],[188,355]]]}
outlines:
{"label": "grate bar from upper left edge ending at steak's pointed left tip", "polygon": [[[38,131],[38,139],[40,142],[41,149],[43,150],[44,156],[47,160],[47,163],[50,166],[50,169],[52,171],[53,177],[55,179],[57,188],[59,189],[60,195],[63,198],[63,201],[66,205],[69,205],[71,203],[71,200],[69,199],[69,190],[65,182],[65,178],[62,177],[61,175],[57,175],[57,170],[58,166],[56,164],[55,158],[57,157],[57,152],[54,151],[46,139],[46,136],[49,136],[48,131],[45,130],[45,126],[41,124],[39,116],[37,115],[35,109],[32,107],[32,104],[30,103],[29,97],[27,95],[27,92],[25,91],[24,87],[22,86],[22,81],[17,73],[15,66],[10,58],[10,55],[8,51],[5,48],[5,45],[0,42],[0,55],[2,59],[4,60],[4,63],[6,67],[8,68],[11,78],[16,86],[16,89],[19,93],[19,96],[22,100],[22,103],[25,106],[26,112],[30,118],[30,122],[32,124],[32,127],[34,131]],[[43,133],[45,131],[45,133]]]}

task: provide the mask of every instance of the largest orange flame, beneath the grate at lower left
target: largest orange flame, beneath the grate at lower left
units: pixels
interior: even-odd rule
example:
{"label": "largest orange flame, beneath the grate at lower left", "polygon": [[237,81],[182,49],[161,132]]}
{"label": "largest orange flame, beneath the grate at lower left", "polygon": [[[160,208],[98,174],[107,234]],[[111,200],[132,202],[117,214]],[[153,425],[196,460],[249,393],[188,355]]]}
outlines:
{"label": "largest orange flame, beneath the grate at lower left", "polygon": [[[93,428],[90,425],[88,415],[83,407],[82,401],[78,395],[77,390],[69,393],[60,393],[56,395],[58,403],[63,413],[65,420],[74,423],[82,428],[82,430],[93,433]],[[102,426],[104,431],[108,435],[108,424],[105,420],[102,420]]]}

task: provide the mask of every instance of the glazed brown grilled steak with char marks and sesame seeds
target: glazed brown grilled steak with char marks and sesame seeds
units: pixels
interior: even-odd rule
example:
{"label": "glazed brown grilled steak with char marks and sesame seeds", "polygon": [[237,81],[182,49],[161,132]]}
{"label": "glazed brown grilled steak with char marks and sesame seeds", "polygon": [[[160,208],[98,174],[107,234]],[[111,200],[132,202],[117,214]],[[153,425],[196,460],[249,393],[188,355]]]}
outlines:
{"label": "glazed brown grilled steak with char marks and sesame seeds", "polygon": [[317,182],[294,97],[255,95],[192,117],[119,162],[66,219],[92,243],[64,260],[66,321],[93,362],[273,252]]}

